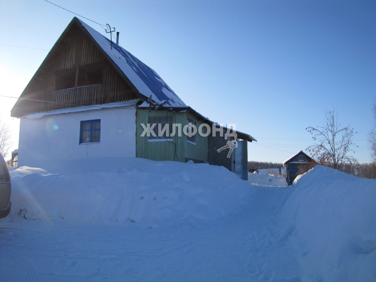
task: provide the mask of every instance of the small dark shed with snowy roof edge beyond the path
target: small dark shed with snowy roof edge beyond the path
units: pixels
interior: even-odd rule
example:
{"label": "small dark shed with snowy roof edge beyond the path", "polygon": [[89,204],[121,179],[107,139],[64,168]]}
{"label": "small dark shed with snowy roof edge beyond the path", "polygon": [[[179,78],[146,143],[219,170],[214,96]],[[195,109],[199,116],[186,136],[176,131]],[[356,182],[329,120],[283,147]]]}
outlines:
{"label": "small dark shed with snowy roof edge beyond the path", "polygon": [[297,154],[284,161],[283,165],[286,167],[287,185],[293,184],[294,179],[301,173],[301,171],[305,167],[308,168],[312,163],[315,163],[314,159],[303,151],[299,151]]}

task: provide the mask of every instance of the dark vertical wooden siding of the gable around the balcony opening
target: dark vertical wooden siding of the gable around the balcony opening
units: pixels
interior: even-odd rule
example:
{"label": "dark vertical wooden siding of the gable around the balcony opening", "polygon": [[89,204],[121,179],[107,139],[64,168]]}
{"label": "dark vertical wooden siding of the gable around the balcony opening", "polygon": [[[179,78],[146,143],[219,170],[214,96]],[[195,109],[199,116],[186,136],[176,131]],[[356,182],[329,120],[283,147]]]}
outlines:
{"label": "dark vertical wooden siding of the gable around the balcony opening", "polygon": [[[23,94],[23,98],[57,102],[53,97],[55,90],[55,71],[100,63],[103,64],[103,85],[101,86],[101,92],[92,93],[95,99],[90,97],[87,100],[91,101],[91,103],[86,105],[123,102],[138,98],[136,93],[130,88],[110,62],[105,59],[99,49],[97,49],[85,33],[75,24],[71,27],[57,49],[59,52],[56,50],[49,61],[45,63],[32,85],[30,85],[28,91]],[[12,116],[21,117],[36,112],[67,108],[66,105],[62,104],[71,104],[69,107],[80,106],[80,104],[70,103],[77,99],[77,97],[70,97],[70,100],[60,100],[58,103],[18,100],[12,110]]]}

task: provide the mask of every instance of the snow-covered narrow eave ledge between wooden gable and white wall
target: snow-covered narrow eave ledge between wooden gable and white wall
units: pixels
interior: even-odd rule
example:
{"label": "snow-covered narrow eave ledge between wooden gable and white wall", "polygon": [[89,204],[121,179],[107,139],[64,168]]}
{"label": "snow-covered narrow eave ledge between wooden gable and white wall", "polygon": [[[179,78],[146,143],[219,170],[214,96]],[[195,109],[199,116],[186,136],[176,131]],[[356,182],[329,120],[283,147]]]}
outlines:
{"label": "snow-covered narrow eave ledge between wooden gable and white wall", "polygon": [[25,115],[21,118],[41,118],[45,115],[59,115],[59,114],[68,114],[71,112],[85,112],[85,111],[92,111],[92,110],[100,110],[100,109],[112,109],[112,108],[119,108],[119,107],[126,107],[126,106],[133,106],[131,108],[126,109],[135,109],[135,105],[139,102],[140,99],[135,99],[127,102],[116,102],[116,103],[108,103],[108,104],[102,104],[102,105],[90,105],[90,106],[79,106],[79,107],[73,107],[73,108],[64,108],[64,109],[58,109],[58,110],[52,110],[48,112],[38,112],[36,114],[29,114]]}

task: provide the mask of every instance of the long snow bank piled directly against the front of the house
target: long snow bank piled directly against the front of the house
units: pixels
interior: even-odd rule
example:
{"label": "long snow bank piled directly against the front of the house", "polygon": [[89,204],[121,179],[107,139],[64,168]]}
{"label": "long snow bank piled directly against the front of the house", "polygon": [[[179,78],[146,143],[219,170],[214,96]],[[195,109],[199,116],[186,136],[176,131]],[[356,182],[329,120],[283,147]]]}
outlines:
{"label": "long snow bank piled directly against the front of the house", "polygon": [[241,211],[255,190],[224,167],[141,158],[80,159],[10,174],[9,220],[196,224]]}

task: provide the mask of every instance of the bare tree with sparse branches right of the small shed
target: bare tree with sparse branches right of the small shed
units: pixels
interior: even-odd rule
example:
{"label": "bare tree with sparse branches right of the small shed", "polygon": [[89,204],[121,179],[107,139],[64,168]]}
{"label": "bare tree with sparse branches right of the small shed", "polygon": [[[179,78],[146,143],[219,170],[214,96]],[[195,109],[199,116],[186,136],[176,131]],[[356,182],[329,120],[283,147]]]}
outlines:
{"label": "bare tree with sparse branches right of the small shed", "polygon": [[357,159],[349,156],[354,152],[353,148],[358,147],[353,143],[353,136],[356,132],[348,125],[341,127],[338,123],[338,114],[333,111],[326,111],[326,124],[324,126],[309,126],[306,130],[313,134],[313,139],[318,142],[309,146],[308,151],[312,158],[319,164],[331,166],[335,169],[344,163],[358,164]]}

